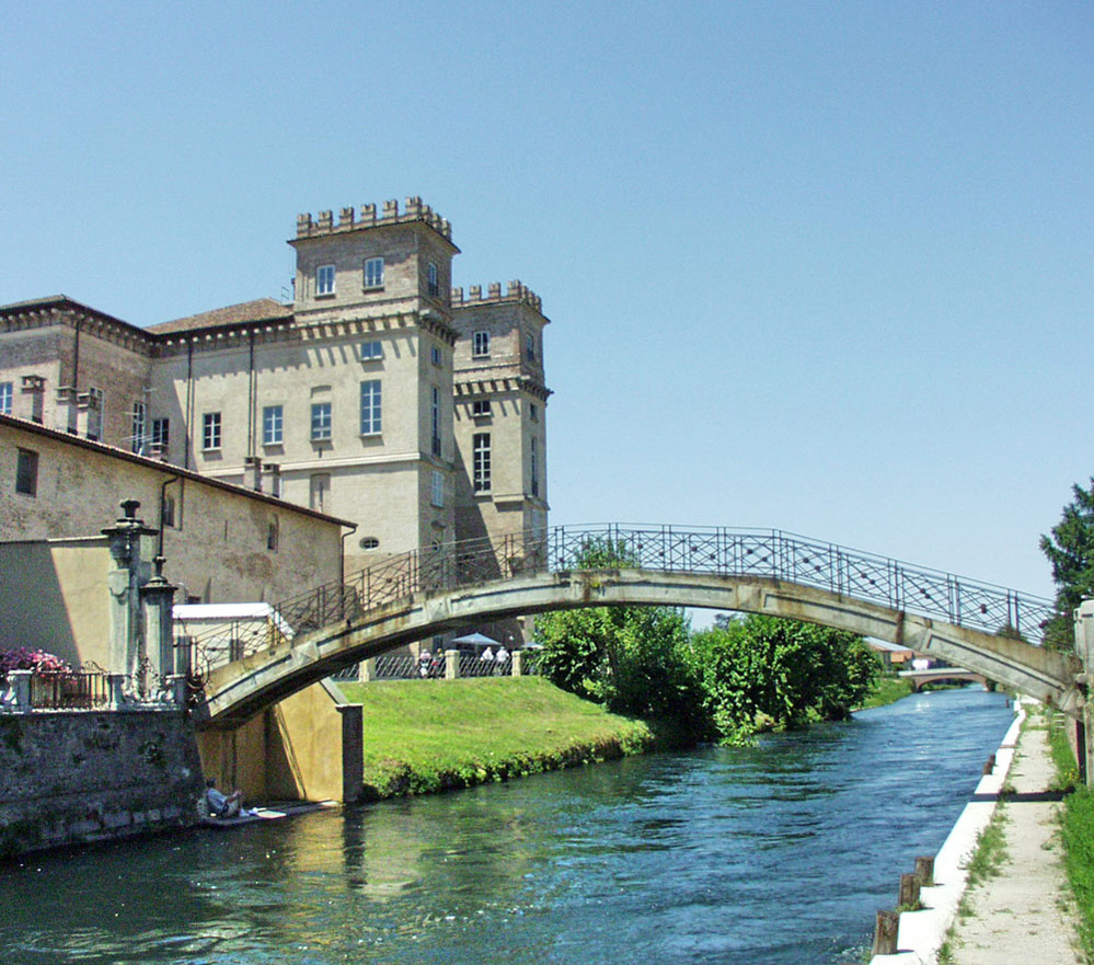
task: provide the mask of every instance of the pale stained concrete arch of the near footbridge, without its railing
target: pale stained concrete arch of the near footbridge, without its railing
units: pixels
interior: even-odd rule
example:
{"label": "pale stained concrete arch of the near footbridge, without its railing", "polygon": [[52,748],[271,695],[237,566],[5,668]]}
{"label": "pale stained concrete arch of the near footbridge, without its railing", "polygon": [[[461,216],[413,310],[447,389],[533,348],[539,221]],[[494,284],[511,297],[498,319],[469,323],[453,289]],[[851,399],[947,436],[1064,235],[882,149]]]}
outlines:
{"label": "pale stained concrete arch of the near footbridge, without its railing", "polygon": [[[343,588],[338,588],[339,591]],[[767,613],[849,630],[931,653],[1066,713],[1081,713],[1070,654],[1009,635],[773,576],[663,568],[522,566],[493,579],[418,589],[280,639],[216,668],[198,723],[234,727],[336,670],[401,644],[480,621],[595,606],[673,606]]]}

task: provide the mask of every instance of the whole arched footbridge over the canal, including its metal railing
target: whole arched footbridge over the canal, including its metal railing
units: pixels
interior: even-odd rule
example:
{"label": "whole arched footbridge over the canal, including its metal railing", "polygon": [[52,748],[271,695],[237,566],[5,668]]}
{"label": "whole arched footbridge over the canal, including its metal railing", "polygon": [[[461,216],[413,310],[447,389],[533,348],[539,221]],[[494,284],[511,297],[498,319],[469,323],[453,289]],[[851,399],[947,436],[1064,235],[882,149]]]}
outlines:
{"label": "whole arched footbridge over the canal, including its metal railing", "polygon": [[[626,562],[590,568],[583,561],[597,551]],[[592,606],[698,607],[821,623],[934,654],[1081,713],[1076,658],[1038,645],[1050,600],[780,530],[609,525],[414,550],[277,605],[276,621],[230,643],[223,630],[197,639],[210,668],[198,722],[234,727],[336,670],[415,640]]]}

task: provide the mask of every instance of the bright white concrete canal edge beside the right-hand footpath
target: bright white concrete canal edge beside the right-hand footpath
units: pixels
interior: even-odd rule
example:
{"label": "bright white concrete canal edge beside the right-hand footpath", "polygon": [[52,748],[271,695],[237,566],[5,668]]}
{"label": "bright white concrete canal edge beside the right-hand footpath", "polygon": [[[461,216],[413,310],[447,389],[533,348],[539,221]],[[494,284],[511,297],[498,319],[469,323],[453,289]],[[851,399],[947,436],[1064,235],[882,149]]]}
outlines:
{"label": "bright white concrete canal edge beside the right-hand footpath", "polygon": [[995,751],[995,767],[980,779],[972,800],[965,805],[935,855],[934,885],[920,892],[923,910],[901,912],[897,934],[900,951],[895,955],[875,955],[871,965],[934,965],[937,962],[938,950],[957,917],[957,906],[968,884],[968,861],[976,852],[980,832],[995,812],[1024,720],[1025,710],[1020,702],[1014,722]]}

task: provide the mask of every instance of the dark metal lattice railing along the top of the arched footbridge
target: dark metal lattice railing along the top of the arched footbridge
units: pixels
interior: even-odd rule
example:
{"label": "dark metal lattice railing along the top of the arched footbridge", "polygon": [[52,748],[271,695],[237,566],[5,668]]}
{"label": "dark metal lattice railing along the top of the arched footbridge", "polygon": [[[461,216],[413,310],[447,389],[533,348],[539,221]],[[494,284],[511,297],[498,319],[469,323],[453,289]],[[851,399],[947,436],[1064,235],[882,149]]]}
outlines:
{"label": "dark metal lattice railing along the top of the arched footbridge", "polygon": [[412,550],[277,604],[276,620],[227,634],[218,627],[187,642],[201,674],[298,633],[357,620],[414,593],[577,568],[770,577],[989,633],[1021,634],[1030,643],[1041,641],[1043,625],[1053,613],[1052,601],[1041,597],[778,529],[607,524]]}

